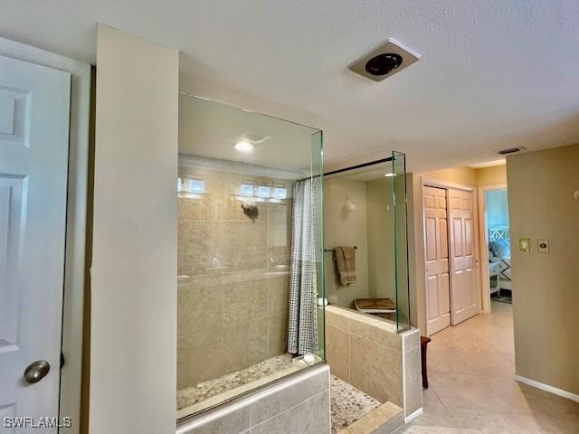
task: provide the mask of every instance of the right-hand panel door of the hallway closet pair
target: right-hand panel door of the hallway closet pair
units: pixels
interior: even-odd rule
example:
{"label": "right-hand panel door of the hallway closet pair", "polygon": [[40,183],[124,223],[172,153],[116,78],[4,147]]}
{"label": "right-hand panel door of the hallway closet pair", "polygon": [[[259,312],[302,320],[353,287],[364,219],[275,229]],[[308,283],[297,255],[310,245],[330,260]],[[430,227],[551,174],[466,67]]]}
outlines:
{"label": "right-hand panel door of the hallway closet pair", "polygon": [[449,189],[451,243],[451,323],[479,313],[473,193]]}

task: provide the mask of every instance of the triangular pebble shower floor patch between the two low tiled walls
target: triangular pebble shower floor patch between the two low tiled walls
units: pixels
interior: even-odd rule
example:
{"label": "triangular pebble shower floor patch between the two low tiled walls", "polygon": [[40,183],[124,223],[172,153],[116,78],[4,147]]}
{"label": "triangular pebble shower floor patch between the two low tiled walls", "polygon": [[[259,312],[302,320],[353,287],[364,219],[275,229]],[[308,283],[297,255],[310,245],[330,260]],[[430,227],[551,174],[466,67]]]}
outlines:
{"label": "triangular pebble shower floor patch between the two low tiled walls", "polygon": [[382,403],[352,384],[331,376],[330,401],[332,405],[332,434],[345,429]]}

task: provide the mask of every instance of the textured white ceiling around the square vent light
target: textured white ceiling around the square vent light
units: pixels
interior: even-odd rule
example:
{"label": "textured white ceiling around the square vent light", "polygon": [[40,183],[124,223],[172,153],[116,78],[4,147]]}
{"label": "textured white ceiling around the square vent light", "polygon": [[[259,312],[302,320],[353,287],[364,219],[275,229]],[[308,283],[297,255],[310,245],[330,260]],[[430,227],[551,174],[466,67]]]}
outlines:
{"label": "textured white ceiling around the square vent light", "polygon": [[[187,90],[324,130],[331,165],[427,170],[579,141],[576,0],[0,0],[0,35],[94,61],[96,22],[183,53]],[[347,65],[392,37],[421,61]]]}

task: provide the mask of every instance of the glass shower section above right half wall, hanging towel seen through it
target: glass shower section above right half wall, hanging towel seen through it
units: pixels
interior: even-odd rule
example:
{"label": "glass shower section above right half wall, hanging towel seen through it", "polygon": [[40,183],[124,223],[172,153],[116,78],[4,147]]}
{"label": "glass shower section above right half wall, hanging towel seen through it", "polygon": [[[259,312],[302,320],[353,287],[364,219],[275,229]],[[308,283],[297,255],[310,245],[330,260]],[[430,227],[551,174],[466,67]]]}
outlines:
{"label": "glass shower section above right half wall, hanging towel seen through it", "polygon": [[[409,329],[405,156],[329,172],[324,186],[327,303]],[[354,277],[340,269],[339,249],[352,251]]]}

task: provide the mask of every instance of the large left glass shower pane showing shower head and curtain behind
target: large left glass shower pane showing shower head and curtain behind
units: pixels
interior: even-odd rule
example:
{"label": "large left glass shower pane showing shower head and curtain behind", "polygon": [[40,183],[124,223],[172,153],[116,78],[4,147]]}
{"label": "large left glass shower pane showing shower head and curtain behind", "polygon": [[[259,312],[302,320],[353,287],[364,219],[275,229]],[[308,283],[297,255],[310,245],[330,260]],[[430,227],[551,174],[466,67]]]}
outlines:
{"label": "large left glass shower pane showing shower head and curtain behind", "polygon": [[322,132],[179,95],[177,419],[324,361]]}

